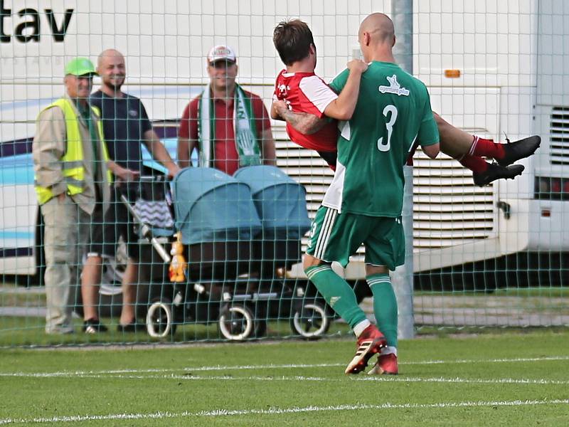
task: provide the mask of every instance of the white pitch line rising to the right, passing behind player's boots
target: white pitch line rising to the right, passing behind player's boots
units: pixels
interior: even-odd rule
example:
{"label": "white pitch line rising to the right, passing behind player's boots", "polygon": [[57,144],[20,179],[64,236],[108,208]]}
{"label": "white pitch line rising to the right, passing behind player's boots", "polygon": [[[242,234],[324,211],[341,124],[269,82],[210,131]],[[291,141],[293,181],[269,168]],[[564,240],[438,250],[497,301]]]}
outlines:
{"label": "white pitch line rising to the right, passing behind player's boots", "polygon": [[[519,363],[519,362],[552,362],[569,360],[569,356],[548,356],[548,357],[520,357],[515,359],[456,359],[456,360],[425,360],[418,362],[399,362],[400,365],[430,365],[430,364],[486,364],[486,363]],[[342,363],[321,363],[321,364],[258,364],[258,365],[234,365],[234,366],[212,366],[212,367],[180,367],[167,369],[108,369],[100,371],[55,371],[55,372],[0,372],[1,376],[37,376],[41,378],[52,376],[75,375],[91,375],[91,374],[144,374],[144,373],[162,373],[176,371],[244,371],[254,369],[304,369],[304,368],[329,368],[343,367]]]}

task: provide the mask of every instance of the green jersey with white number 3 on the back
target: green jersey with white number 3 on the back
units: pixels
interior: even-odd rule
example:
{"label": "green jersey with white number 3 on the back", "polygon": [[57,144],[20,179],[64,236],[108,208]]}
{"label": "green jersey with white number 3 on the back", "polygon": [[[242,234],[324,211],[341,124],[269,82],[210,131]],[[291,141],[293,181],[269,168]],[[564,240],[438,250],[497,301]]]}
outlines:
{"label": "green jersey with white number 3 on the back", "polygon": [[[331,83],[340,93],[349,70]],[[340,212],[398,217],[403,165],[415,139],[439,142],[425,84],[393,63],[373,62],[363,73],[356,110],[339,122],[338,162],[322,204]]]}

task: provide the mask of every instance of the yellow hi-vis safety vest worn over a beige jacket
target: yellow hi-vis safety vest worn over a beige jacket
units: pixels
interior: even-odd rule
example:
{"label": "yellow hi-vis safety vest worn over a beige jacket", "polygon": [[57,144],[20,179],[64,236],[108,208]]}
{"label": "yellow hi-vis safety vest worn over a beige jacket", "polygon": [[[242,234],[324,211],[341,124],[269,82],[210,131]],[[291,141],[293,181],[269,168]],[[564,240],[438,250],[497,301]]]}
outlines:
{"label": "yellow hi-vis safety vest worn over a beige jacket", "polygon": [[[81,141],[81,134],[79,132],[79,120],[75,115],[75,110],[71,105],[71,101],[61,98],[53,104],[48,105],[48,108],[60,107],[63,110],[65,117],[65,130],[67,132],[67,149],[61,158],[62,172],[67,184],[67,194],[73,196],[74,194],[83,193],[85,189],[85,166],[83,165],[83,142]],[[96,107],[91,107],[92,111],[99,117],[99,110]],[[44,110],[44,111],[45,111]],[[97,130],[99,131],[99,138],[102,145],[102,158],[105,162],[109,161],[109,152],[107,151],[107,144],[102,134],[102,122],[97,122]],[[109,184],[112,182],[112,172],[107,169],[107,180]],[[36,194],[38,194],[39,204],[44,204],[46,201],[53,198],[53,193],[50,189],[36,185]]]}

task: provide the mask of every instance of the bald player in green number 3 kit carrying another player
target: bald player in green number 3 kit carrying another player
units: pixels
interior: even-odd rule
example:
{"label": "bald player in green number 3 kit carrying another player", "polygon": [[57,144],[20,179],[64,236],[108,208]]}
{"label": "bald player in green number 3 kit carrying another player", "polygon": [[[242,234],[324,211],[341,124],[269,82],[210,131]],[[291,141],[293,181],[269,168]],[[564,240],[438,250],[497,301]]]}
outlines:
{"label": "bald player in green number 3 kit carrying another player", "polygon": [[[398,310],[389,271],[404,263],[403,165],[415,140],[435,158],[439,133],[427,88],[395,64],[395,31],[388,16],[376,13],[364,19],[358,42],[369,67],[361,77],[351,120],[339,126],[336,172],[312,223],[304,271],[356,334],[356,355],[346,374],[363,371],[374,354],[378,360],[370,374],[397,374]],[[332,81],[336,93],[348,74],[344,70]],[[337,261],[345,267],[361,243],[382,332],[367,320],[349,284],[330,266]]]}

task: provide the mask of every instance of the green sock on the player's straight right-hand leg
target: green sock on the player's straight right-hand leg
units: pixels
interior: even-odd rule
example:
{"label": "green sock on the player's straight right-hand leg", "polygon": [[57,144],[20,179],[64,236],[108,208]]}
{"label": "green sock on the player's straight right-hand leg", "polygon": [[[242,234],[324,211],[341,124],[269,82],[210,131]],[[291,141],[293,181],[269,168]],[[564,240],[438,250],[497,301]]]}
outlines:
{"label": "green sock on the player's straight right-hand leg", "polygon": [[397,347],[397,300],[389,274],[373,274],[366,277],[373,293],[373,313],[379,330],[390,347]]}

